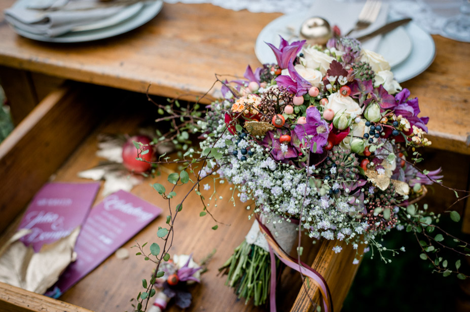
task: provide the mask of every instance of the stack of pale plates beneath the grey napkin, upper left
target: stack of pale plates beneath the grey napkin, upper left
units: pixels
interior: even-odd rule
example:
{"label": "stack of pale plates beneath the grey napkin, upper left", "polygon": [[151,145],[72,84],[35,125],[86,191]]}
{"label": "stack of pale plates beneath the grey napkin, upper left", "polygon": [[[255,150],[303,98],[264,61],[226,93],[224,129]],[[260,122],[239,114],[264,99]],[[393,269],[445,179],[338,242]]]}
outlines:
{"label": "stack of pale plates beneath the grey napkin, upper left", "polygon": [[[18,0],[12,8],[26,8],[28,2],[29,0]],[[153,19],[162,7],[163,0],[135,2],[110,17],[75,26],[70,31],[58,36],[38,34],[28,31],[26,28],[17,27],[13,23],[10,24],[18,34],[33,40],[56,43],[94,41],[135,29]]]}

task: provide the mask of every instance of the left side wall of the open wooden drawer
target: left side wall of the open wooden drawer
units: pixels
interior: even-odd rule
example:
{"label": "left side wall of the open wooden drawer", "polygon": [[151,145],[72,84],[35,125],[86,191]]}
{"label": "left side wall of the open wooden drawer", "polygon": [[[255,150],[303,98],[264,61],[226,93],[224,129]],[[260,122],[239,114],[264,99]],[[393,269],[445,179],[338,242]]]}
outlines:
{"label": "left side wall of the open wooden drawer", "polygon": [[[64,86],[46,97],[0,144],[0,231],[96,125],[105,96],[102,87]],[[83,106],[74,105],[78,100]]]}

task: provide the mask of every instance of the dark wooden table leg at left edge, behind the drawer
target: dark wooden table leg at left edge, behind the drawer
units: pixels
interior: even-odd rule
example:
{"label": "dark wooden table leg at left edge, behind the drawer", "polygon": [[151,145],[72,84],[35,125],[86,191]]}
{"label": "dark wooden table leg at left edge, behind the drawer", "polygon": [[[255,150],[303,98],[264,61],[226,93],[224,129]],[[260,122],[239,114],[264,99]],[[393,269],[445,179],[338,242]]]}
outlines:
{"label": "dark wooden table leg at left edge, behind the drawer", "polygon": [[14,125],[18,125],[39,103],[28,71],[0,66],[0,84],[7,96]]}

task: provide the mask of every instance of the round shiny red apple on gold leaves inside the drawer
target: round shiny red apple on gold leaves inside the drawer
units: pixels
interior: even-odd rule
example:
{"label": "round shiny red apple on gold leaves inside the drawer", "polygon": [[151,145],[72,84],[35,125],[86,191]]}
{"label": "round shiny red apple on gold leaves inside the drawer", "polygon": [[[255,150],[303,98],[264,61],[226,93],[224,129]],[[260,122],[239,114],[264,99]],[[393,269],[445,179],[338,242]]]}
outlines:
{"label": "round shiny red apple on gold leaves inside the drawer", "polygon": [[[126,167],[129,171],[133,171],[135,173],[146,172],[150,169],[150,167],[152,167],[152,164],[146,163],[144,161],[138,161],[136,160],[136,158],[140,157],[143,160],[151,162],[153,161],[154,150],[152,146],[149,145],[143,145],[141,146],[141,149],[137,149],[135,148],[134,143],[132,141],[140,142],[142,144],[150,144],[150,142],[152,142],[152,139],[148,136],[136,135],[129,138],[122,147],[122,163],[124,167]],[[145,150],[149,150],[149,152],[142,154],[142,152]]]}

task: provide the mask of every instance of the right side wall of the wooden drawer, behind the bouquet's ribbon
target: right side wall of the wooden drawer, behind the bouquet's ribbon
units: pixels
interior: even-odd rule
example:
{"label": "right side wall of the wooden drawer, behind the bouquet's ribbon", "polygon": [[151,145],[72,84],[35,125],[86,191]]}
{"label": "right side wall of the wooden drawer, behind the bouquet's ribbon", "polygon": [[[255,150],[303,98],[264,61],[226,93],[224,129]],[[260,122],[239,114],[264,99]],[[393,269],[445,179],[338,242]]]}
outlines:
{"label": "right side wall of the wooden drawer, behind the bouquet's ribbon", "polygon": [[[335,253],[333,247],[341,246],[343,250]],[[354,276],[359,265],[352,264],[356,257],[356,250],[345,242],[321,241],[321,247],[312,263],[314,268],[326,281],[330,288],[333,308],[340,311],[343,301],[348,294]],[[310,285],[310,289],[308,289]],[[308,291],[306,291],[308,290]],[[316,305],[321,302],[321,293],[315,284],[304,282],[296,301],[292,305],[291,312],[313,312]]]}

